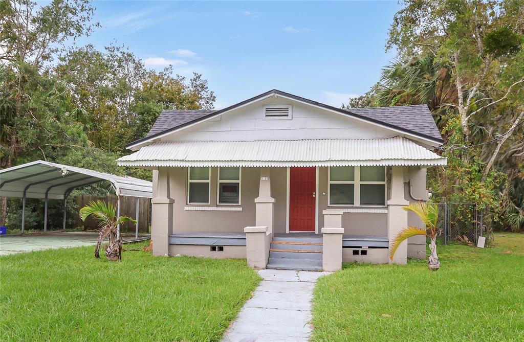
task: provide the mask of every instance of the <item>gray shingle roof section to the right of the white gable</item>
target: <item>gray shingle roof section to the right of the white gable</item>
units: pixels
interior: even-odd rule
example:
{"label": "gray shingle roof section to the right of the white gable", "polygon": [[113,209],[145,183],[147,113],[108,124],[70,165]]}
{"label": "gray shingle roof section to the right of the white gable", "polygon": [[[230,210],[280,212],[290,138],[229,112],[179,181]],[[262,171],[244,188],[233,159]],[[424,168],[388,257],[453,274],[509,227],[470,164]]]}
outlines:
{"label": "gray shingle roof section to the right of the white gable", "polygon": [[432,138],[442,139],[439,128],[436,127],[435,120],[427,105],[351,108],[347,109],[347,112],[409,129]]}

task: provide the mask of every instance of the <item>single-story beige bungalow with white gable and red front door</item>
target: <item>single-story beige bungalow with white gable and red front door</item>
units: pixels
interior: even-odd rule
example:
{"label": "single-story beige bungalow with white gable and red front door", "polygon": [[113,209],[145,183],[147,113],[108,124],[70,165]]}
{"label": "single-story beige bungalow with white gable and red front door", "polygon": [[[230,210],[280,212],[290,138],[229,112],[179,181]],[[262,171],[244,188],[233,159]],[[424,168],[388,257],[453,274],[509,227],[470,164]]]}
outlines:
{"label": "single-story beige bungalow with white gable and red front door", "polygon": [[[247,258],[254,268],[387,263],[422,222],[426,169],[446,159],[425,105],[341,109],[278,90],[216,111],[163,111],[117,160],[153,170],[155,255]],[[413,237],[395,263],[425,258]]]}

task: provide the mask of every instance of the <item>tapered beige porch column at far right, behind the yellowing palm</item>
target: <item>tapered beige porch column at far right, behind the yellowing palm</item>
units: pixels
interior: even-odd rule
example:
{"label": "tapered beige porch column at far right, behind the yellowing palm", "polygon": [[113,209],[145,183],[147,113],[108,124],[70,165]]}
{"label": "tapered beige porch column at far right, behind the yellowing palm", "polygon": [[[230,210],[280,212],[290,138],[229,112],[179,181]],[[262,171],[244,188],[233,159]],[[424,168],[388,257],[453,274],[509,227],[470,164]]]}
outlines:
{"label": "tapered beige porch column at far right, behind the yellowing palm", "polygon": [[[402,209],[408,205],[404,197],[404,168],[394,166],[391,168],[391,198],[388,200],[388,240],[391,245],[395,236],[408,226],[408,212]],[[408,241],[403,241],[395,252],[395,257],[390,263],[406,264],[408,261]]]}

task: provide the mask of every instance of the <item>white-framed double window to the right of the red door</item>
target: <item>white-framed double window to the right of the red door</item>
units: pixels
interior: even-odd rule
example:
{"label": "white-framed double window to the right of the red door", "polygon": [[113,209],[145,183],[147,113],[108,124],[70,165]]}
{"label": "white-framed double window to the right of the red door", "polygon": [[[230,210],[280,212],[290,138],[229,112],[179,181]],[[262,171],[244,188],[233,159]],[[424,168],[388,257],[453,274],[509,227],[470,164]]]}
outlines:
{"label": "white-framed double window to the right of the red door", "polygon": [[386,204],[386,168],[331,167],[329,168],[329,205]]}

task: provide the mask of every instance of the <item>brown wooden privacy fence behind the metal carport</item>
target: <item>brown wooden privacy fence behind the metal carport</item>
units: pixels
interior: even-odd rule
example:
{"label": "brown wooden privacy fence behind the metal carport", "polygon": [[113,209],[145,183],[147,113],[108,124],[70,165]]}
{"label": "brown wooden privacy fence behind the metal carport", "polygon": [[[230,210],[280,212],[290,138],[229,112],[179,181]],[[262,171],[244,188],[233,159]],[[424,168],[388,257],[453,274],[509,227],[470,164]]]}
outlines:
{"label": "brown wooden privacy fence behind the metal carport", "polygon": [[[97,197],[92,195],[81,195],[75,197],[75,202],[77,202],[78,208],[84,207],[86,204],[89,204],[91,201],[102,200],[104,202],[111,202],[116,208],[117,197],[116,196],[105,196]],[[136,219],[136,201],[139,201],[138,209],[138,231],[139,233],[148,233],[149,232],[149,198],[140,198],[140,197],[129,197],[129,196],[120,196],[120,215],[126,215],[131,218]],[[84,222],[80,219],[79,214],[77,213],[76,217],[77,227],[84,226],[86,229],[97,229],[99,228],[98,222],[92,217],[88,217]],[[125,222],[120,226],[121,231],[133,232],[135,231],[135,225],[132,222]]]}

